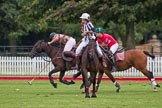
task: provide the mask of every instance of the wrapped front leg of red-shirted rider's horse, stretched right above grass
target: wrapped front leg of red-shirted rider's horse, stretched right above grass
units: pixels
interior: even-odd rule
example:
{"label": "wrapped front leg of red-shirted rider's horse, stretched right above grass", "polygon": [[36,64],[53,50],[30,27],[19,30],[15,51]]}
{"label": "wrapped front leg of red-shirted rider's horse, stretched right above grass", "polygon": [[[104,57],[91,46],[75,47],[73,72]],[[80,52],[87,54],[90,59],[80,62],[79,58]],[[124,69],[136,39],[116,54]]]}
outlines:
{"label": "wrapped front leg of red-shirted rider's horse, stretched right above grass", "polygon": [[114,83],[115,87],[116,87],[116,92],[119,92],[120,90],[120,85],[118,82],[116,82],[115,78],[113,77],[113,75],[111,74],[111,71],[109,70],[105,70],[105,74],[111,79],[111,81]]}

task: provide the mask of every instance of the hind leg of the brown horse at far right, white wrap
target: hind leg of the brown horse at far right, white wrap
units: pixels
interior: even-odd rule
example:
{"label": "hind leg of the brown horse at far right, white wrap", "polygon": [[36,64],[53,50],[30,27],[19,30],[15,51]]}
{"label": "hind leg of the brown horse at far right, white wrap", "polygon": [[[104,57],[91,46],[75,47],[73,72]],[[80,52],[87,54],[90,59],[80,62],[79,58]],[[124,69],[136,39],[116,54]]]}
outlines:
{"label": "hind leg of the brown horse at far right, white wrap", "polygon": [[152,84],[154,91],[157,91],[157,87],[160,87],[160,85],[156,83],[154,76],[153,76],[153,72],[148,71],[147,69],[143,69],[143,70],[141,70],[141,72],[145,76],[147,76],[147,78],[151,81],[151,84]]}

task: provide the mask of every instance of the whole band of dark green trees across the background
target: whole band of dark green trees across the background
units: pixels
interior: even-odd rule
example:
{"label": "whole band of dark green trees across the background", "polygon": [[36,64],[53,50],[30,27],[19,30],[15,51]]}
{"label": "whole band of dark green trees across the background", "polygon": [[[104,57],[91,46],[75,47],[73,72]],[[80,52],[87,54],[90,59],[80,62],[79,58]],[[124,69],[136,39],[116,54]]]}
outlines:
{"label": "whole band of dark green trees across the background", "polygon": [[50,32],[79,41],[80,16],[123,41],[127,49],[156,33],[162,37],[162,0],[1,0],[0,45],[33,45]]}

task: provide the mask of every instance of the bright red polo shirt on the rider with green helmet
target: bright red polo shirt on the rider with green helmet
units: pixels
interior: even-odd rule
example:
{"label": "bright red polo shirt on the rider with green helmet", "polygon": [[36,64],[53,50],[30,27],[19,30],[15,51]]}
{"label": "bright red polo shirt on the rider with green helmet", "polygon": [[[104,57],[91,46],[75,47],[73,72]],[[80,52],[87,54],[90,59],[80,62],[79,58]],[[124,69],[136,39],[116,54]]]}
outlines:
{"label": "bright red polo shirt on the rider with green helmet", "polygon": [[106,33],[102,33],[102,38],[97,38],[97,41],[98,43],[107,44],[108,48],[117,43],[117,41],[111,35]]}

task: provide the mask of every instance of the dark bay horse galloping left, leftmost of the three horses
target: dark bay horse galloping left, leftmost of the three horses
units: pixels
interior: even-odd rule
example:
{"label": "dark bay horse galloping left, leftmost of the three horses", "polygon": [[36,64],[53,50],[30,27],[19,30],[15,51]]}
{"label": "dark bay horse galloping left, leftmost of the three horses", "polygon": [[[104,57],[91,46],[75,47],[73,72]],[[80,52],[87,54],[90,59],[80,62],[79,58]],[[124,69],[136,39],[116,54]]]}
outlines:
{"label": "dark bay horse galloping left, leftmost of the three horses", "polygon": [[[73,81],[68,82],[67,80],[62,79],[63,76],[65,75],[65,71],[68,70],[67,66],[65,64],[65,60],[63,60],[63,58],[62,58],[63,48],[48,45],[44,40],[39,40],[35,43],[29,56],[31,58],[34,58],[35,56],[38,55],[38,53],[41,53],[41,52],[45,52],[51,58],[52,64],[55,67],[48,74],[50,83],[53,85],[54,88],[57,88],[57,83],[54,83],[52,74],[59,72],[59,71],[60,71],[60,75],[59,75],[60,82],[66,84],[66,85],[74,84]],[[69,64],[69,69],[71,69],[71,67],[75,66],[75,60],[69,61],[68,64]]]}

